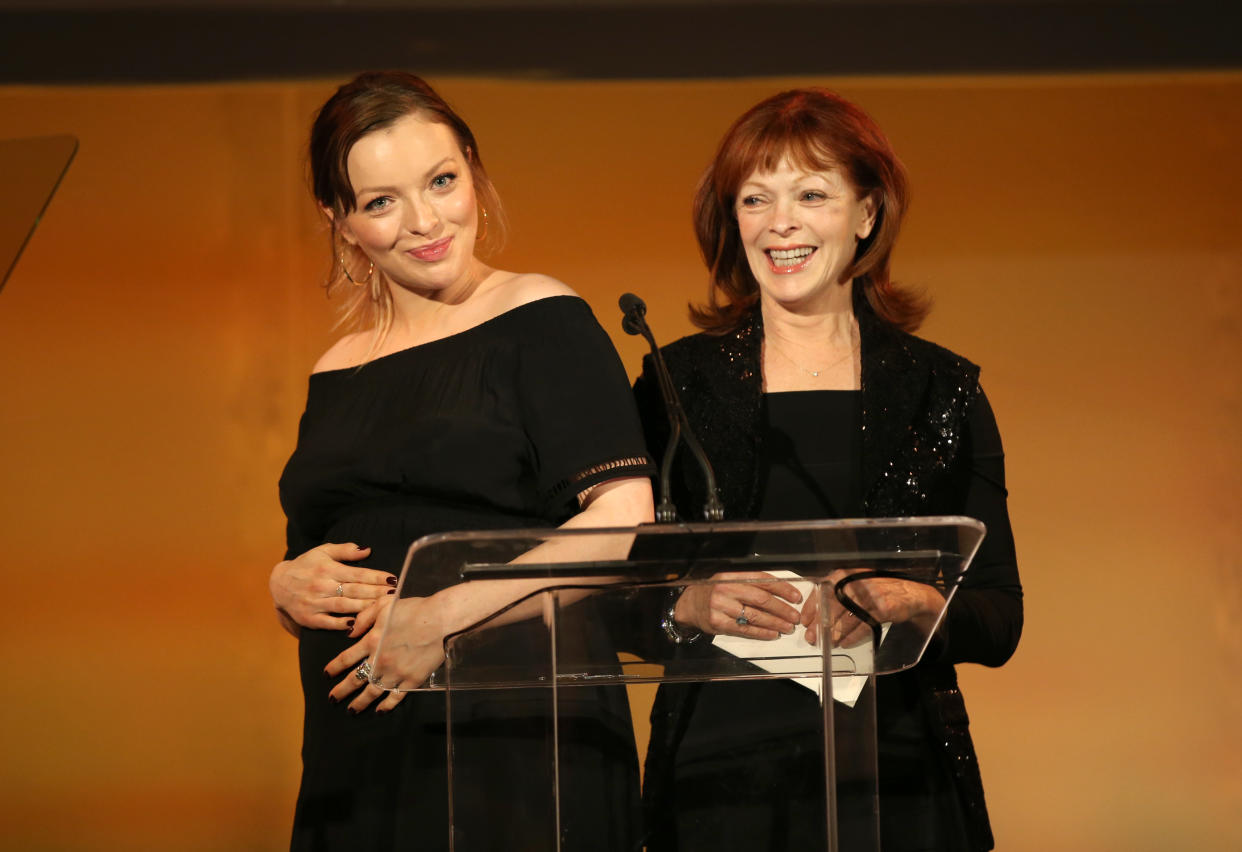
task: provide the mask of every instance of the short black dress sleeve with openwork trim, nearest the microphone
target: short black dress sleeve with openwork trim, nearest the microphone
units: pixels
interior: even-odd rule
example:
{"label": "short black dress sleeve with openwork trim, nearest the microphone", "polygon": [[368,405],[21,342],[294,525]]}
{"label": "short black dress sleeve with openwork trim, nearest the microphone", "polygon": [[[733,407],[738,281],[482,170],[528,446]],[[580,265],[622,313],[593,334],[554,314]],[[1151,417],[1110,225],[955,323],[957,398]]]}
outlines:
{"label": "short black dress sleeve with openwork trim, nearest the microphone", "polygon": [[545,301],[520,348],[518,397],[539,493],[561,508],[601,482],[653,469],[609,335],[586,302]]}

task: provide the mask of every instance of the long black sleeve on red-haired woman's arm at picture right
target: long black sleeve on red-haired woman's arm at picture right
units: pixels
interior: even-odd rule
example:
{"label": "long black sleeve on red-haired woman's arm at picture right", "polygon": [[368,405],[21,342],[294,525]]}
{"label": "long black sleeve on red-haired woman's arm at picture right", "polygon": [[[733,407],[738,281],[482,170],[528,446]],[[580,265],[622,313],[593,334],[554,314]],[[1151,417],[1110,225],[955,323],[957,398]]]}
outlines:
{"label": "long black sleeve on red-haired woman's arm at picture right", "polygon": [[1022,635],[1022,582],[1006,505],[1005,451],[992,407],[981,390],[965,438],[970,479],[961,514],[984,522],[987,534],[949,605],[938,659],[1000,666]]}

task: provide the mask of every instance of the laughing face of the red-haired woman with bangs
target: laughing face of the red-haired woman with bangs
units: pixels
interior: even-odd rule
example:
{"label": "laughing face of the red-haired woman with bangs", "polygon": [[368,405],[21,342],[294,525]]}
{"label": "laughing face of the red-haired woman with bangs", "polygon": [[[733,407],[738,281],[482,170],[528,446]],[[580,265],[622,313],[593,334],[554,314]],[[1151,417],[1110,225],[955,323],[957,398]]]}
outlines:
{"label": "laughing face of the red-haired woman with bangs", "polygon": [[859,240],[876,224],[876,204],[858,199],[837,170],[807,171],[781,159],[738,188],[738,233],[760,298],[797,312],[827,310]]}

